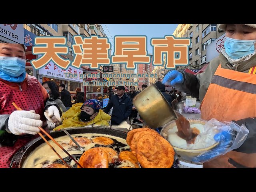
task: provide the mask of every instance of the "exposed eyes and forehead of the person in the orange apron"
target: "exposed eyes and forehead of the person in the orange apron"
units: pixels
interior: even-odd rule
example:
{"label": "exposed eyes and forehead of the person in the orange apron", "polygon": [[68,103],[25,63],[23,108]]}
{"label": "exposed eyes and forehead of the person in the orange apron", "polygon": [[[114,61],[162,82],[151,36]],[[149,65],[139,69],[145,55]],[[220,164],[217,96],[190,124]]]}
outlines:
{"label": "exposed eyes and forehead of the person in the orange apron", "polygon": [[242,24],[227,24],[226,36],[238,40],[256,40],[256,28]]}

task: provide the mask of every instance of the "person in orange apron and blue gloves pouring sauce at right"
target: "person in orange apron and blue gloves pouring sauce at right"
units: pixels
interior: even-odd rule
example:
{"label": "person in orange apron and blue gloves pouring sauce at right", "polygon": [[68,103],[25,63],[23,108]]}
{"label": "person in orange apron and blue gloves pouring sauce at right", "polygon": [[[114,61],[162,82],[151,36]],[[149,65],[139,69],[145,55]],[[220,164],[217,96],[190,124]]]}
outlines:
{"label": "person in orange apron and blue gloves pouring sauce at right", "polygon": [[202,119],[234,121],[249,130],[242,146],[226,154],[222,152],[233,138],[222,132],[221,138],[225,139],[220,154],[224,155],[210,157],[204,167],[256,167],[256,24],[219,24],[218,27],[226,32],[224,48],[204,72],[192,75],[173,70],[162,82],[175,85],[193,97],[199,96]]}

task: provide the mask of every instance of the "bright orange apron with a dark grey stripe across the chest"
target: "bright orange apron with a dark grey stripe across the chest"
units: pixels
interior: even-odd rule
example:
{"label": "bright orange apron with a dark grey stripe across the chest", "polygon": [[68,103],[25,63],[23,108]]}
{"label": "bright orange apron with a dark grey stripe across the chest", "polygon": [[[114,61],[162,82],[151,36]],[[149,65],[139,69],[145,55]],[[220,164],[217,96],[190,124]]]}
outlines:
{"label": "bright orange apron with a dark grey stripe across the chest", "polygon": [[201,103],[201,118],[229,122],[256,117],[255,90],[254,75],[218,67]]}

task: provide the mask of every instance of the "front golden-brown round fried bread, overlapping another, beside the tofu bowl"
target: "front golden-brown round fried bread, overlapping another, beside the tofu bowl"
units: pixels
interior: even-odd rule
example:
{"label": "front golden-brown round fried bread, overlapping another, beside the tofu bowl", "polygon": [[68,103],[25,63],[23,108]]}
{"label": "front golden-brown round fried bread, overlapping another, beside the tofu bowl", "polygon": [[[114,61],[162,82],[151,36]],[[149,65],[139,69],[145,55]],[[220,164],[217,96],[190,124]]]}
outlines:
{"label": "front golden-brown round fried bread, overlapping another, beside the tofu bowl", "polygon": [[174,150],[159,134],[144,134],[137,142],[136,158],[143,168],[170,168]]}

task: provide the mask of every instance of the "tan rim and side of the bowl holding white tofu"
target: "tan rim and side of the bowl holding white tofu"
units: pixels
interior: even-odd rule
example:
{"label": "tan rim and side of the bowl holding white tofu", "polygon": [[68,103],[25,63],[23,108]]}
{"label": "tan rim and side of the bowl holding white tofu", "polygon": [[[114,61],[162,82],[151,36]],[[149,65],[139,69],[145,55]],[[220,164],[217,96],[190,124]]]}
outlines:
{"label": "tan rim and side of the bowl holding white tofu", "polygon": [[[205,120],[202,119],[196,119],[196,118],[186,118],[191,124],[206,124]],[[171,121],[168,124],[166,124],[162,130],[161,130],[161,136],[164,137],[168,141],[168,131],[172,130],[176,126],[175,121]],[[214,145],[208,147],[208,148],[202,148],[202,149],[182,149],[178,148],[175,146],[172,146],[175,150],[175,152],[181,157],[184,158],[185,160],[191,160],[191,158],[198,156],[202,152],[206,152],[214,148],[216,145],[218,145],[218,142],[216,142]]]}

